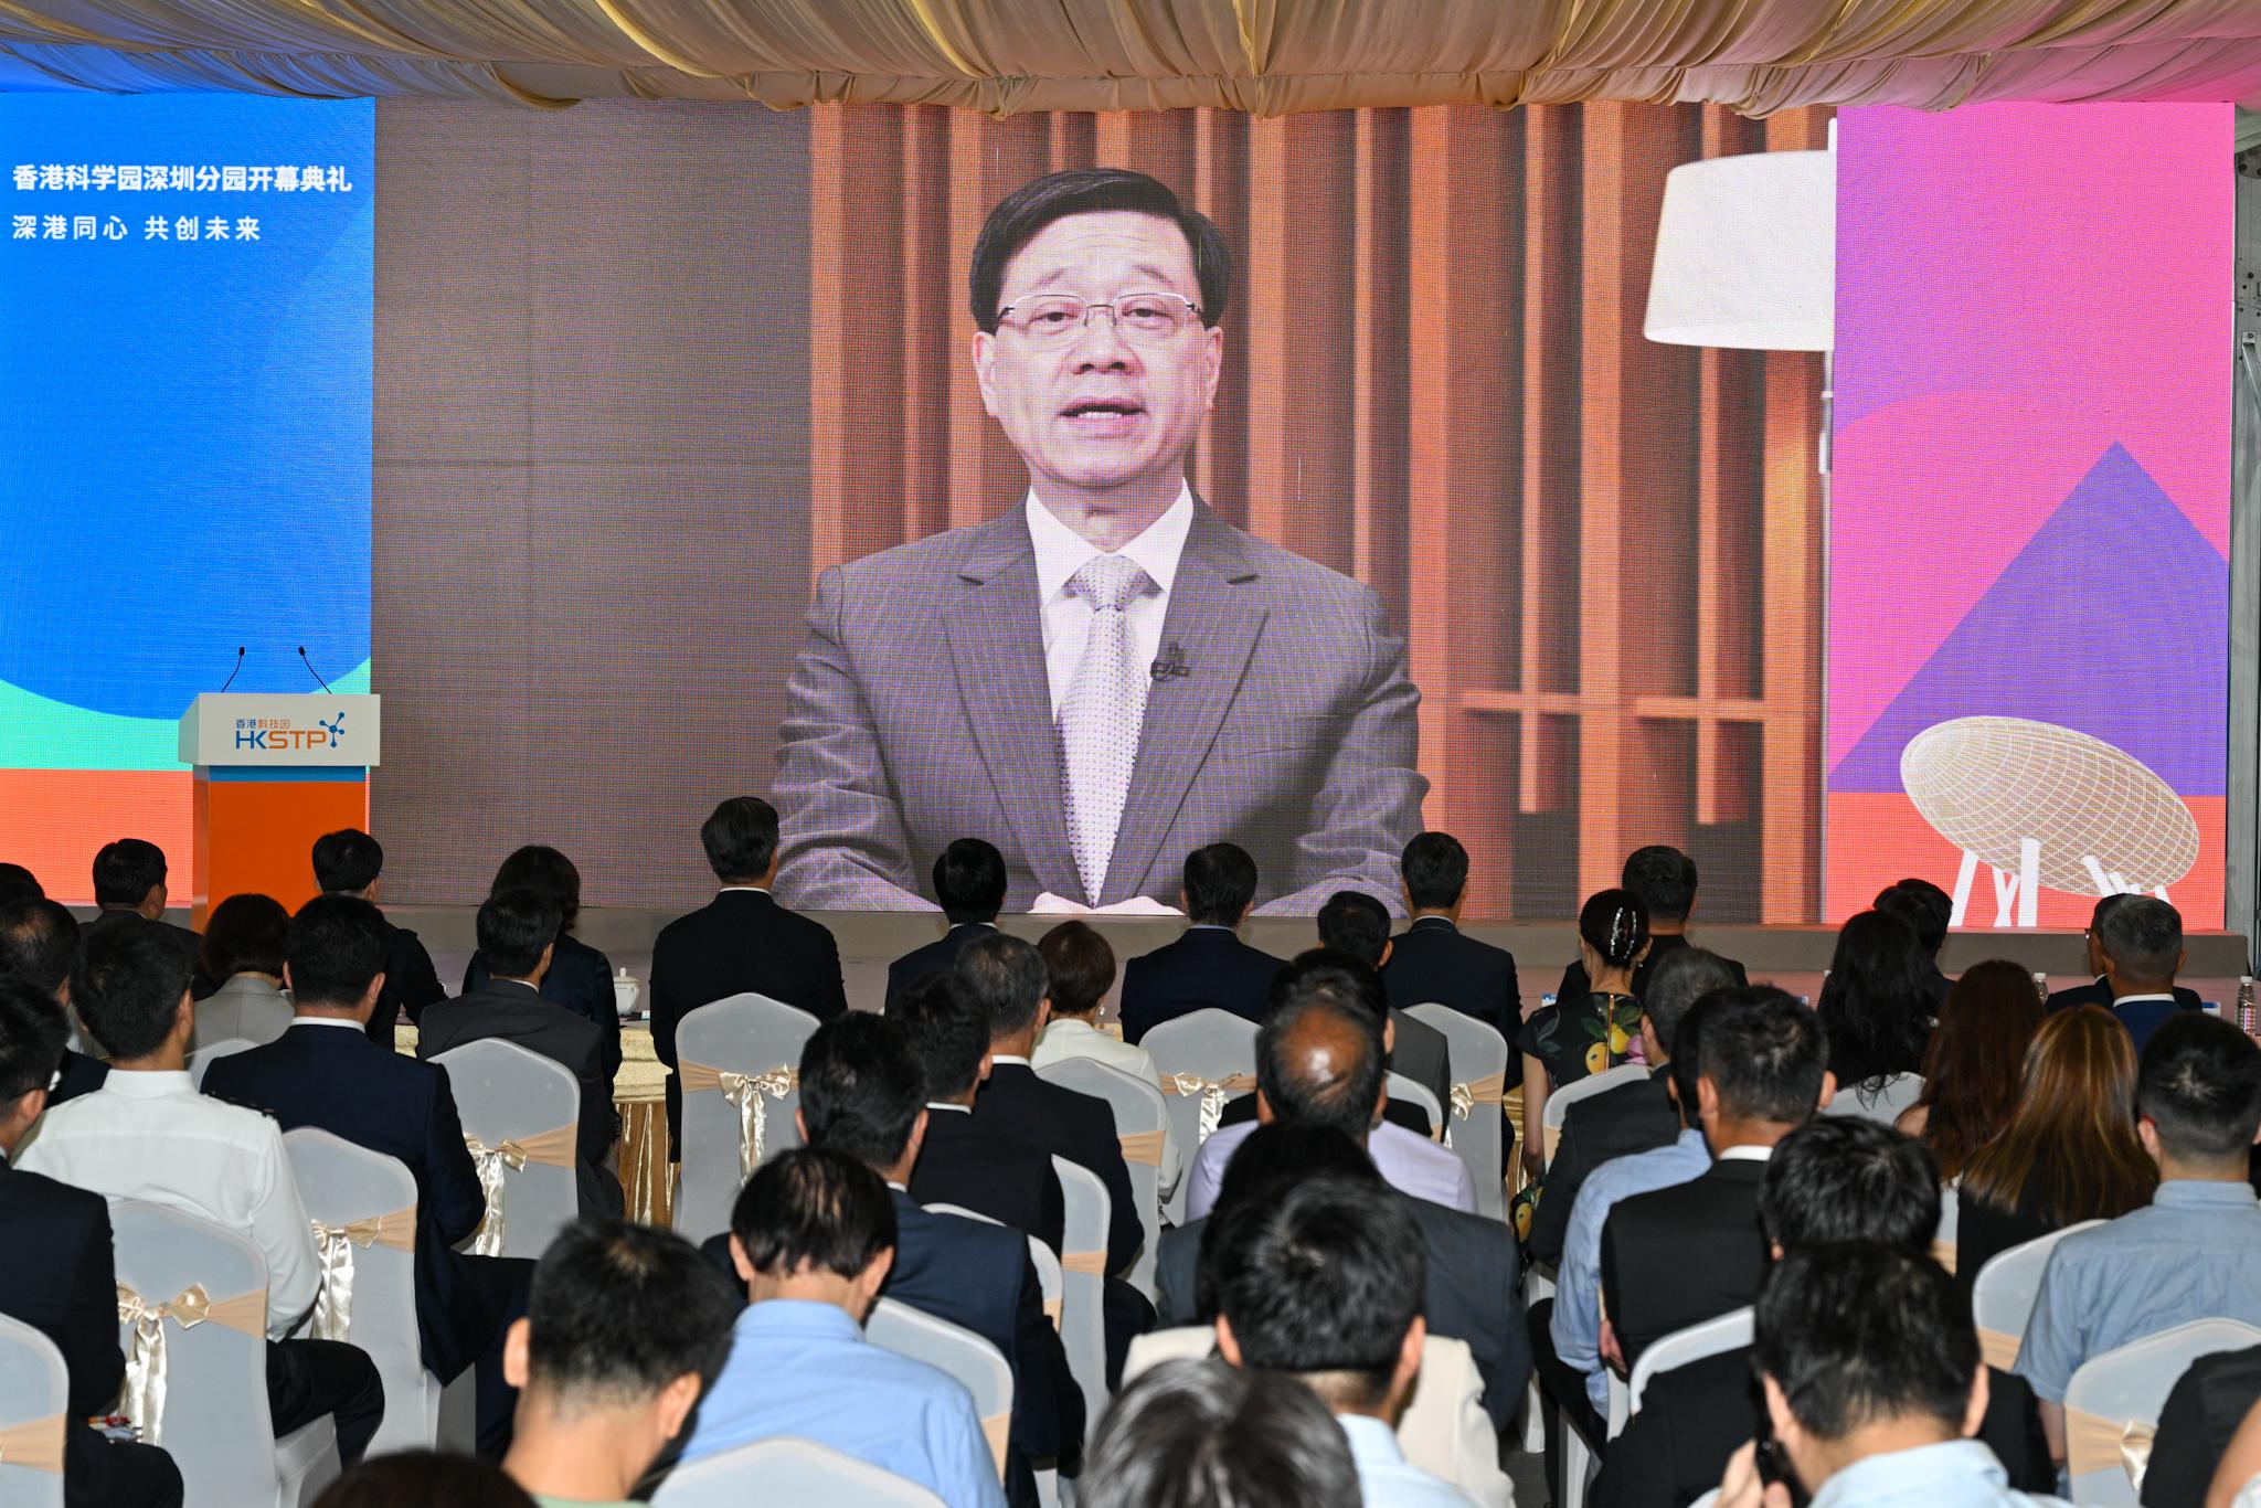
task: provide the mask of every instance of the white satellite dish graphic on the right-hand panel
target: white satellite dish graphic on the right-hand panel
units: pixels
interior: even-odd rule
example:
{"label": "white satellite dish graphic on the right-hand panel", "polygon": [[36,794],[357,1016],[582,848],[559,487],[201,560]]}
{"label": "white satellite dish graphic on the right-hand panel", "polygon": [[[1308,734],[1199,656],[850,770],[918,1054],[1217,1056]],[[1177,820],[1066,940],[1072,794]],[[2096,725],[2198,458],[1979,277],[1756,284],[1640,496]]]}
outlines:
{"label": "white satellite dish graphic on the right-hand panel", "polygon": [[1994,870],[1996,927],[2033,927],[2044,884],[2166,900],[2166,886],[2198,864],[2198,821],[2182,796],[2134,755],[2073,728],[2021,717],[1933,723],[1899,751],[1899,782],[1963,850],[1956,927],[1981,864]]}

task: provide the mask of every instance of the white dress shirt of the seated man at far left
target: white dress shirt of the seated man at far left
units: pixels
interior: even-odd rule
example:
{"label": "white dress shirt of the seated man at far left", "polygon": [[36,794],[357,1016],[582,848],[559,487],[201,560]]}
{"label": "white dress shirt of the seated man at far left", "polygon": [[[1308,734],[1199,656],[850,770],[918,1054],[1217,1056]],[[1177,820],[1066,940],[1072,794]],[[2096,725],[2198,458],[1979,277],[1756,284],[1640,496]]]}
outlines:
{"label": "white dress shirt of the seated man at far left", "polygon": [[16,1167],[113,1201],[181,1210],[249,1237],[267,1259],[269,1341],[285,1338],[314,1307],[321,1264],[283,1155],[283,1130],[258,1110],[197,1094],[185,1072],[113,1067],[99,1090],[41,1117],[38,1137]]}

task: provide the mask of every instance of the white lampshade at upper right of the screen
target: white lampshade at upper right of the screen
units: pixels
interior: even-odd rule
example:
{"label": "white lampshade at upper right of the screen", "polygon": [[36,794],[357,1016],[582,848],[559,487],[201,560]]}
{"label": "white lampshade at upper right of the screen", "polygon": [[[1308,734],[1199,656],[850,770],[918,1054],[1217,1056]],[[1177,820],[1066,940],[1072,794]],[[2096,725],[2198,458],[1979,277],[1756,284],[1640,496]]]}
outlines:
{"label": "white lampshade at upper right of the screen", "polygon": [[1641,335],[1666,346],[1829,350],[1836,154],[1752,151],[1673,167]]}

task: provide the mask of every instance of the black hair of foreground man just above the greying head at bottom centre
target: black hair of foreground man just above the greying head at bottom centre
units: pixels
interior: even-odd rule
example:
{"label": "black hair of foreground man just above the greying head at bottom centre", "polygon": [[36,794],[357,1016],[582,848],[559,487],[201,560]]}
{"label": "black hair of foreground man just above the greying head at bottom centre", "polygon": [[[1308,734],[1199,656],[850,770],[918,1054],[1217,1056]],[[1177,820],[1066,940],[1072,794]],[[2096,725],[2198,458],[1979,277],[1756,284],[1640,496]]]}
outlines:
{"label": "black hair of foreground man just above the greying head at bottom centre", "polygon": [[1201,1257],[1241,1366],[1332,1375],[1320,1386],[1329,1404],[1379,1404],[1429,1282],[1404,1201],[1372,1180],[1305,1178],[1212,1219],[1219,1230]]}

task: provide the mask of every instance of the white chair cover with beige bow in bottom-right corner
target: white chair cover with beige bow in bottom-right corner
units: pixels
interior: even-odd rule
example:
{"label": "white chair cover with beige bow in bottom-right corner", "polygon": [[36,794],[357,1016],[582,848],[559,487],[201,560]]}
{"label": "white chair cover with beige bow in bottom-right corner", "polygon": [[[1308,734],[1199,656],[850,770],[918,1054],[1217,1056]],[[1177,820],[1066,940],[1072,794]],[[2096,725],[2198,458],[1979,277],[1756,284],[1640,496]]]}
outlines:
{"label": "white chair cover with beige bow in bottom-right corner", "polygon": [[2193,1320],[2091,1357],[2064,1388],[2064,1470],[2076,1503],[2134,1508],[2166,1395],[2200,1357],[2261,1343],[2238,1320]]}

